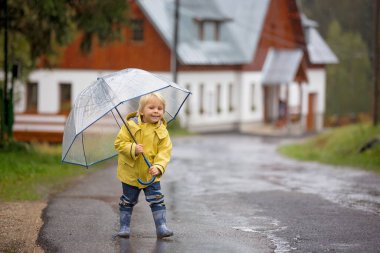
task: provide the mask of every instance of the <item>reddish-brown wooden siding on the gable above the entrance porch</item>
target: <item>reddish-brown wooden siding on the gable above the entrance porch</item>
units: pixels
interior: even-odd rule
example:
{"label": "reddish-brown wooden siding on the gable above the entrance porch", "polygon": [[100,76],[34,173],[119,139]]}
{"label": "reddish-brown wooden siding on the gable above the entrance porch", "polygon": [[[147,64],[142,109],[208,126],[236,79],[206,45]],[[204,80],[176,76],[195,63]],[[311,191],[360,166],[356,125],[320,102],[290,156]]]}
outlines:
{"label": "reddish-brown wooden siding on the gable above the entrance porch", "polygon": [[306,43],[301,17],[294,0],[272,0],[264,20],[259,44],[251,64],[244,70],[262,69],[269,48],[301,48],[306,54]]}

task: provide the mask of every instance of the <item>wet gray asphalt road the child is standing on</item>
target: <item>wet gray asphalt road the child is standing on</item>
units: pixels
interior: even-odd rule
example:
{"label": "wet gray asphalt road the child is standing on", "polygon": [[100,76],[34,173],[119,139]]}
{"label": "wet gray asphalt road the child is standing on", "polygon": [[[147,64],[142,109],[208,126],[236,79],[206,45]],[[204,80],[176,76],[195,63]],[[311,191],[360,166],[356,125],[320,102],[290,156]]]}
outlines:
{"label": "wet gray asphalt road the child is standing on", "polygon": [[283,142],[175,139],[162,180],[175,235],[165,240],[143,193],[131,238],[115,237],[114,161],[50,201],[39,243],[46,252],[380,252],[380,175],[296,162],[276,153]]}

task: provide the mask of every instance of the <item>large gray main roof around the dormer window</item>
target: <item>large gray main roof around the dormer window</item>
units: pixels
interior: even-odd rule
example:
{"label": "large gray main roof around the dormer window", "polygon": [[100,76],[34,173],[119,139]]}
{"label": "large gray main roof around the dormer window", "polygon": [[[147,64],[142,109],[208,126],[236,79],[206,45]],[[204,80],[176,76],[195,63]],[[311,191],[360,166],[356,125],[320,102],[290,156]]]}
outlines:
{"label": "large gray main roof around the dormer window", "polygon": [[[173,41],[174,0],[138,0],[167,45]],[[188,65],[231,65],[253,59],[269,0],[181,0],[178,55]],[[198,39],[194,20],[220,20],[219,41]]]}

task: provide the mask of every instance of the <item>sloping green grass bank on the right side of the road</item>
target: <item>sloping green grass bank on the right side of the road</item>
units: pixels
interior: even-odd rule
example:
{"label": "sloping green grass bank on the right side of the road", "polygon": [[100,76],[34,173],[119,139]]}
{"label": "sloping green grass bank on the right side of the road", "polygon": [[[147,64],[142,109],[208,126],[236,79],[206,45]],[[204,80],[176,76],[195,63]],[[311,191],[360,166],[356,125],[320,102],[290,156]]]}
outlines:
{"label": "sloping green grass bank on the right side of the road", "polygon": [[327,130],[302,143],[281,146],[279,151],[299,160],[380,172],[380,143],[359,153],[360,148],[376,136],[380,136],[380,126],[349,125]]}

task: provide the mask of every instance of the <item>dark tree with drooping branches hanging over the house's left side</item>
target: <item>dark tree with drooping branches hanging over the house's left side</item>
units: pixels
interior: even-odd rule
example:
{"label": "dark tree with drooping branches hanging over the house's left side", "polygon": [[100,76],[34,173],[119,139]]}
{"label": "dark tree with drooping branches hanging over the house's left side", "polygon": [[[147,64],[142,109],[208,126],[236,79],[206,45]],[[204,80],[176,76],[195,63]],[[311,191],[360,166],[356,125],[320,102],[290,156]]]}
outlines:
{"label": "dark tree with drooping branches hanging over the house's left side", "polygon": [[[83,33],[81,49],[88,53],[95,37],[101,45],[121,39],[122,27],[128,24],[126,0],[0,0],[0,6],[2,48],[5,31],[9,34],[8,47],[4,47],[4,51],[0,52],[2,68],[6,68],[7,73],[11,70],[12,64],[5,66],[8,65],[4,59],[7,50],[8,62],[17,61],[22,65],[24,77],[35,68],[37,60],[41,57],[45,64],[54,64],[58,48],[71,42],[79,32]],[[0,106],[2,110],[13,104],[13,101],[9,100],[12,97],[9,89],[9,83],[3,82],[0,91],[6,92]],[[1,122],[10,122],[4,118],[4,112],[1,115]],[[8,131],[1,129],[0,145],[4,144],[1,140],[8,139],[9,134],[5,132],[9,133],[12,126],[7,125],[6,128]]]}

